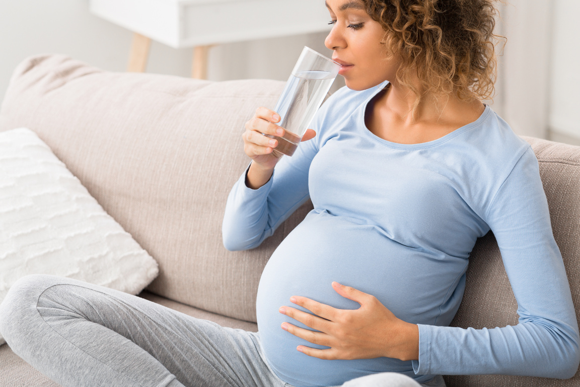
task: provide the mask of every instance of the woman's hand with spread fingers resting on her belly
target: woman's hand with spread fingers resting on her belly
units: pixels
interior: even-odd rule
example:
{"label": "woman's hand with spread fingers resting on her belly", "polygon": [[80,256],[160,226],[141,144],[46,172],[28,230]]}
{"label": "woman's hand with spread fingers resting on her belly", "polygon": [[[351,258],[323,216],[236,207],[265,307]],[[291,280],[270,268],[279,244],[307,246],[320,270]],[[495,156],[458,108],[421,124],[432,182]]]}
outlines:
{"label": "woman's hand with spread fingers resting on her belly", "polygon": [[419,359],[419,328],[406,323],[390,312],[375,296],[333,282],[341,296],[360,304],[358,309],[336,309],[306,297],[292,296],[290,301],[310,310],[282,306],[280,313],[316,331],[282,323],[282,329],[313,344],[328,346],[314,349],[299,345],[296,349],[319,359],[374,359],[393,357],[400,360]]}

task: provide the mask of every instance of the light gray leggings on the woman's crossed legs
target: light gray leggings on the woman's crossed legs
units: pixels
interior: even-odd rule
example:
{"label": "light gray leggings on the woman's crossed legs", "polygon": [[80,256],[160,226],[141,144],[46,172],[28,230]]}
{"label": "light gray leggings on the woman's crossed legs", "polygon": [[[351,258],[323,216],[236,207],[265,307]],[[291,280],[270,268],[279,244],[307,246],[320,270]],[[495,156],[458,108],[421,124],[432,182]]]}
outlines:
{"label": "light gray leggings on the woman's crossed legs", "polygon": [[[0,332],[17,355],[65,387],[292,387],[269,368],[257,333],[77,280],[17,281],[0,304]],[[427,385],[444,386],[443,378]],[[385,373],[343,386],[420,385]]]}

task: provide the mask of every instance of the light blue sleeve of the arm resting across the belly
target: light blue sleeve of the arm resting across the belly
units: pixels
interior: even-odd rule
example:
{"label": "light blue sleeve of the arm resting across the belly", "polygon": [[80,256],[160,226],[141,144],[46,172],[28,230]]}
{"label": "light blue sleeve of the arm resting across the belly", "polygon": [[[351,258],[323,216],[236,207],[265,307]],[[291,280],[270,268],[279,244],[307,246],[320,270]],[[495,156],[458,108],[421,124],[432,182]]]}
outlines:
{"label": "light blue sleeve of the arm resting across the belly", "polygon": [[572,377],[580,361],[578,324],[531,149],[497,192],[486,221],[516,296],[519,323],[481,330],[419,325],[414,371]]}

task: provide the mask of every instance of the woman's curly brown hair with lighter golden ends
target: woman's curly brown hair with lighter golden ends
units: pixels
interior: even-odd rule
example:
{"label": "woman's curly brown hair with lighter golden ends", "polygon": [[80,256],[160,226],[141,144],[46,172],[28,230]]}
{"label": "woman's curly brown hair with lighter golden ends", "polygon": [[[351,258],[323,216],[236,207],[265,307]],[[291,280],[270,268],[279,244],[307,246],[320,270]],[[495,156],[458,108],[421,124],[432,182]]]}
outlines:
{"label": "woman's curly brown hair with lighter golden ends", "polygon": [[494,96],[497,60],[494,0],[361,0],[383,30],[387,53],[402,66],[397,81],[417,96],[455,93],[462,100]]}

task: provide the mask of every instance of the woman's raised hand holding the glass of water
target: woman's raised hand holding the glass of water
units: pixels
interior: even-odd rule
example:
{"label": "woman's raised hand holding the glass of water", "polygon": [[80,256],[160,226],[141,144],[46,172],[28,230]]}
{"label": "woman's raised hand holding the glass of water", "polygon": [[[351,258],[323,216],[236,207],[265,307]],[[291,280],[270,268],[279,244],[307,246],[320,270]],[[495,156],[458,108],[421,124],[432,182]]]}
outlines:
{"label": "woman's raised hand holding the glass of water", "polygon": [[[273,153],[278,146],[278,140],[266,135],[281,137],[284,128],[276,125],[280,122],[280,115],[265,107],[259,107],[251,120],[246,122],[244,139],[244,152],[252,159],[248,170],[246,185],[252,189],[258,189],[270,180],[274,167],[280,157]],[[316,136],[316,132],[307,129],[302,141],[310,140]]]}

